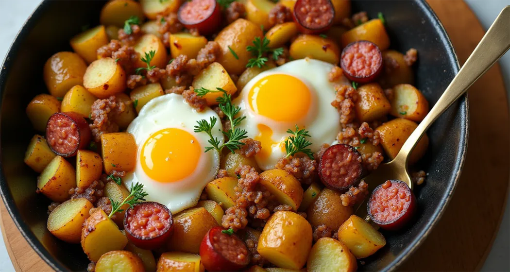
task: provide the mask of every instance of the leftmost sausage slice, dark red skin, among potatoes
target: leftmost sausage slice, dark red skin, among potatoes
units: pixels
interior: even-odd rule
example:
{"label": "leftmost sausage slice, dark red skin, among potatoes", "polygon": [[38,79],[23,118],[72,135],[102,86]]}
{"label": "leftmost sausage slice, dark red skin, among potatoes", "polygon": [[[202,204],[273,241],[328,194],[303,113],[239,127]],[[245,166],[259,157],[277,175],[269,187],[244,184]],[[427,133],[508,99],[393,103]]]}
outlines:
{"label": "leftmost sausage slice, dark red skin, among potatoes", "polygon": [[64,158],[86,149],[92,134],[85,116],[76,112],[57,112],[46,123],[46,141],[57,155]]}

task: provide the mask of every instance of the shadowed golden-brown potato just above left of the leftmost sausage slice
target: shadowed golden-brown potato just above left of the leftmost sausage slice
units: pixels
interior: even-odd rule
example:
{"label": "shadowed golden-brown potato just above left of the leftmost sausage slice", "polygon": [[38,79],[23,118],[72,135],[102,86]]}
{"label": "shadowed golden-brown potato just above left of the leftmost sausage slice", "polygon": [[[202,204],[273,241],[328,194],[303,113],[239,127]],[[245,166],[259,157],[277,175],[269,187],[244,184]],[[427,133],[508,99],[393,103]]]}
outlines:
{"label": "shadowed golden-brown potato just above left of the leftmost sausage slice", "polygon": [[37,131],[46,131],[49,116],[60,112],[60,101],[49,94],[38,94],[27,106],[27,116]]}

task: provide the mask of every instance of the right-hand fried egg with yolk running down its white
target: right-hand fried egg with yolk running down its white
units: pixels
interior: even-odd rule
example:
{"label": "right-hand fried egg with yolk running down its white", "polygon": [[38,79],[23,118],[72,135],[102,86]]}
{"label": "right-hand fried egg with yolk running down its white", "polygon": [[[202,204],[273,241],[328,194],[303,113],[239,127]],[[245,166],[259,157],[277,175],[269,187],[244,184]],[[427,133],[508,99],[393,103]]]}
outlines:
{"label": "right-hand fried egg with yolk running down its white", "polygon": [[264,71],[242,89],[234,104],[246,116],[240,128],[247,136],[262,142],[256,155],[261,169],[274,168],[285,157],[288,129],[305,128],[311,137],[312,152],[323,143],[335,141],[340,131],[340,115],[331,106],[335,100],[335,84],[350,85],[341,77],[329,82],[328,73],[334,65],[313,59],[301,59]]}

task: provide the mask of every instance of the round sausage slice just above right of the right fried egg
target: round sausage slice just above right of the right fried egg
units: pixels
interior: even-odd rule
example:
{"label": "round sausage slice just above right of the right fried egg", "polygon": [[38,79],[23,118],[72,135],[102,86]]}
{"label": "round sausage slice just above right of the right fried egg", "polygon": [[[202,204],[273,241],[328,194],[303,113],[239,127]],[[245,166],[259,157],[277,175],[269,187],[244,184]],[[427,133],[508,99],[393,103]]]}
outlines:
{"label": "round sausage slice just above right of the right fried egg", "polygon": [[351,81],[368,83],[382,71],[382,54],[379,47],[369,41],[355,41],[345,46],[340,67]]}

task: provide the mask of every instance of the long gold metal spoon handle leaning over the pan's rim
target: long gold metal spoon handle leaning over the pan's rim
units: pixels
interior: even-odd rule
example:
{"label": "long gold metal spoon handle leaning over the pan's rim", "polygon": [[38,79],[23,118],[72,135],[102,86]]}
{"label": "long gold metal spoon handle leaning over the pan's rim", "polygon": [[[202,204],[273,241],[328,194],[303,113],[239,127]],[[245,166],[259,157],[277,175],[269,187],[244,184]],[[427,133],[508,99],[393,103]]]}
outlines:
{"label": "long gold metal spoon handle leaning over the pan's rim", "polygon": [[506,6],[469,56],[436,105],[405,141],[395,160],[407,164],[408,155],[432,123],[510,48],[510,6]]}

